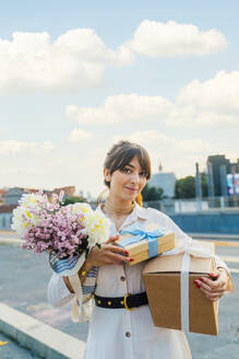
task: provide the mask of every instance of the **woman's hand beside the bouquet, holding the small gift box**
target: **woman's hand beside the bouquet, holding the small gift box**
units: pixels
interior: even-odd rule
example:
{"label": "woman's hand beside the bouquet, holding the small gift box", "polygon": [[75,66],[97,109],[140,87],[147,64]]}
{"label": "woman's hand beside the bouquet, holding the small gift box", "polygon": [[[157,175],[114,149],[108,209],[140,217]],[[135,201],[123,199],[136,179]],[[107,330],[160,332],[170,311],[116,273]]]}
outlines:
{"label": "woman's hand beside the bouquet, holding the small gift box", "polygon": [[94,246],[86,259],[86,266],[104,266],[107,264],[122,265],[123,263],[132,262],[129,257],[129,252],[118,246],[115,242],[119,235],[109,238],[108,241],[100,245],[100,248]]}

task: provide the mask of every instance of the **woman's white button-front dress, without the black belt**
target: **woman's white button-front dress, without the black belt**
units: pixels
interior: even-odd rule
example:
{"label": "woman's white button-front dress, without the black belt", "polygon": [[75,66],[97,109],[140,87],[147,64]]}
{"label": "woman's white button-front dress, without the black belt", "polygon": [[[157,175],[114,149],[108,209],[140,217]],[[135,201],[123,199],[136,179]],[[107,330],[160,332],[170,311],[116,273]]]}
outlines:
{"label": "woman's white button-front dress, without the black belt", "polygon": [[[101,210],[100,208],[98,208]],[[120,230],[132,223],[157,223],[175,232],[176,239],[186,234],[163,212],[153,208],[135,206],[122,223]],[[118,234],[111,222],[110,236]],[[226,265],[216,257],[217,266]],[[105,265],[99,268],[95,293],[100,297],[124,297],[145,291],[142,270],[145,265]],[[60,276],[53,275],[48,298],[51,304],[62,305],[72,298]],[[126,309],[104,309],[93,304],[86,344],[85,359],[188,359],[191,352],[181,331],[155,327],[148,305],[133,311]]]}

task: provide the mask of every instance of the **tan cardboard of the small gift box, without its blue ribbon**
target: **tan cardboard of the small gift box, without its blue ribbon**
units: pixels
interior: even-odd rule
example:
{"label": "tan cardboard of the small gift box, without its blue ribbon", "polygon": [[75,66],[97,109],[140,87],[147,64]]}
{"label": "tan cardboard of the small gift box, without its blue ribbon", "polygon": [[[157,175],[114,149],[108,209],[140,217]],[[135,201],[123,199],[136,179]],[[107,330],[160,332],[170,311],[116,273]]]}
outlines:
{"label": "tan cardboard of the small gift box, without its blue ribbon", "polygon": [[[151,232],[158,229],[158,224],[151,223],[145,227],[146,232]],[[119,245],[124,240],[133,238],[130,233],[120,234],[120,239],[117,241]],[[140,262],[148,259],[148,241],[141,240],[136,243],[123,245],[123,247],[129,252],[129,256],[133,257],[134,260],[129,263],[130,266],[133,266]],[[157,254],[162,254],[166,251],[170,251],[175,247],[175,233],[165,231],[164,235],[157,238]]]}

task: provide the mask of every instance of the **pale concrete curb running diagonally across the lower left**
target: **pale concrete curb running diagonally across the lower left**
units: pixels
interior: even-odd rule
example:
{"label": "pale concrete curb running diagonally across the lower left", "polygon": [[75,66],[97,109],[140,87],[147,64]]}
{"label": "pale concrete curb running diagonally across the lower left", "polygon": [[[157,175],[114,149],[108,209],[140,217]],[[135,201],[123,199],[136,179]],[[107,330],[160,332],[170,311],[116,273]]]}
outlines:
{"label": "pale concrete curb running diagonally across the lower left", "polygon": [[0,332],[44,359],[83,359],[85,343],[0,303]]}

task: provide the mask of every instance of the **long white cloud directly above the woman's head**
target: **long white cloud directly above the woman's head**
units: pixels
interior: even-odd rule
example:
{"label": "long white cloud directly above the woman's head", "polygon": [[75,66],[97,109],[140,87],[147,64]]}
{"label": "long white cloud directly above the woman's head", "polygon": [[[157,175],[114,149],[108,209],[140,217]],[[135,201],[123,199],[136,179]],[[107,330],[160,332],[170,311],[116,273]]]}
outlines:
{"label": "long white cloud directly above the woman's head", "polygon": [[160,96],[142,96],[135,93],[109,96],[103,106],[67,106],[65,115],[80,124],[120,124],[128,119],[156,120],[171,111],[171,104]]}

